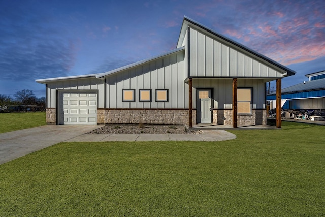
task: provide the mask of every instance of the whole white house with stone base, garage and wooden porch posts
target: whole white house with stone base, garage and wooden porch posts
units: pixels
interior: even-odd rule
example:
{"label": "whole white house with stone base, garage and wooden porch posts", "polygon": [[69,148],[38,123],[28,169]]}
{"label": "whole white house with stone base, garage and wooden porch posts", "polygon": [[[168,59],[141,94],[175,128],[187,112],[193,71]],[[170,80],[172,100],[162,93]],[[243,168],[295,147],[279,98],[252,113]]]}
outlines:
{"label": "whole white house with stone base, garage and wooden porch posts", "polygon": [[184,17],[174,50],[105,73],[36,82],[46,85],[47,123],[238,127],[266,125],[266,83],[277,80],[281,97],[281,79],[294,74]]}

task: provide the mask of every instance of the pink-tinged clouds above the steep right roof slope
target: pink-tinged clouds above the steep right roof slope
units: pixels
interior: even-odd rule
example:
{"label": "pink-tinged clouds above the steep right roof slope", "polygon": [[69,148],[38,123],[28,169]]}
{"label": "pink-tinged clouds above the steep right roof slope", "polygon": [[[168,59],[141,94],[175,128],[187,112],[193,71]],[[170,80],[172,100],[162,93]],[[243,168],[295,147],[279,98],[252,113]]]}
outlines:
{"label": "pink-tinged clouds above the steep right roof slope", "polygon": [[323,1],[235,3],[230,0],[221,6],[228,13],[236,13],[229,16],[217,9],[214,15],[217,18],[212,23],[217,32],[281,64],[310,61],[325,55],[322,49],[325,47],[325,10],[320,10],[325,8]]}

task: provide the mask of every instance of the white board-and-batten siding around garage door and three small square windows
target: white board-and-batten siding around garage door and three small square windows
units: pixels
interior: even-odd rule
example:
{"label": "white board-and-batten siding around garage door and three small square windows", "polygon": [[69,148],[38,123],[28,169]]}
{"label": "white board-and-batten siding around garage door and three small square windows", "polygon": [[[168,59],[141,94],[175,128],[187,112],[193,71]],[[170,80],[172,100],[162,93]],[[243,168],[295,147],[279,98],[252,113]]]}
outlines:
{"label": "white board-and-batten siding around garage door and three small square windows", "polygon": [[[103,78],[87,77],[49,80],[47,103],[56,108],[57,90],[98,90],[98,108],[188,108],[188,84],[184,82],[184,49],[108,74]],[[122,89],[135,89],[135,102],[122,101]],[[138,90],[151,89],[151,102],[139,102]],[[168,102],[156,102],[155,90],[168,89]]]}

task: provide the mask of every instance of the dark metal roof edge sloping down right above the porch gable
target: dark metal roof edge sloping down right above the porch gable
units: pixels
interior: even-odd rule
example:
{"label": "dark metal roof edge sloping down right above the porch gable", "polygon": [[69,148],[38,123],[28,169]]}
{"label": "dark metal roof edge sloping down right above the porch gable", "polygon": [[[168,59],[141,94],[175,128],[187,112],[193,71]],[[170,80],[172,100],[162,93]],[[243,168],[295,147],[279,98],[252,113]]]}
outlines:
{"label": "dark metal roof edge sloping down right above the porch gable", "polygon": [[[296,71],[291,70],[291,69],[289,69],[289,68],[286,67],[286,66],[283,66],[282,64],[280,64],[280,63],[274,61],[273,59],[270,59],[269,57],[267,57],[267,56],[265,56],[265,55],[263,55],[263,54],[261,54],[261,53],[258,53],[257,51],[252,50],[252,49],[246,47],[245,45],[240,44],[239,42],[236,42],[236,41],[234,41],[234,40],[232,40],[232,39],[230,39],[230,38],[228,38],[228,37],[226,37],[226,36],[223,36],[223,35],[221,35],[221,34],[215,32],[215,30],[213,30],[213,29],[211,29],[211,28],[209,28],[209,27],[207,27],[207,26],[205,26],[205,25],[203,25],[203,24],[201,24],[201,23],[199,23],[199,22],[197,22],[197,21],[195,21],[195,20],[193,20],[193,19],[191,19],[191,18],[189,18],[189,17],[184,16],[184,20],[186,20],[186,21],[188,21],[188,22],[190,22],[190,23],[192,23],[192,24],[194,24],[194,25],[196,25],[196,26],[198,26],[198,27],[200,27],[200,28],[203,28],[203,29],[206,30],[207,32],[209,32],[209,33],[211,33],[211,34],[213,34],[213,35],[215,35],[215,36],[217,36],[217,37],[223,39],[223,40],[226,41],[226,42],[229,42],[229,43],[231,43],[231,44],[233,44],[233,45],[235,45],[235,46],[237,46],[237,47],[240,47],[241,49],[243,49],[243,50],[245,50],[245,51],[247,51],[247,52],[249,52],[249,53],[251,53],[251,54],[253,54],[253,55],[255,55],[255,56],[258,56],[259,58],[262,58],[262,59],[268,61],[269,63],[271,63],[271,64],[273,64],[273,65],[279,67],[280,69],[285,70],[285,71],[288,73],[287,76],[291,76],[291,75],[295,75],[295,74],[296,74]],[[184,21],[183,21],[183,22],[184,22]],[[287,76],[284,76],[284,77],[287,77]]]}

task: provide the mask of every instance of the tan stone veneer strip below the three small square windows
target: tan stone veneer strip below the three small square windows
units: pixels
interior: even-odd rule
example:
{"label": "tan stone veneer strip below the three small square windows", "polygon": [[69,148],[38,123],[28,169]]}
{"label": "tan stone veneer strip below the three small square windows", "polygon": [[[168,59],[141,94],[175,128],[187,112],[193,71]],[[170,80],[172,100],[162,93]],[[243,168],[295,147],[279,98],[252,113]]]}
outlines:
{"label": "tan stone veneer strip below the three small square windows", "polygon": [[[98,123],[188,125],[188,109],[98,109]],[[196,110],[192,110],[195,123]]]}

